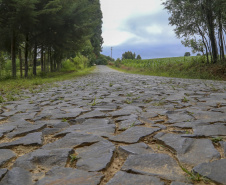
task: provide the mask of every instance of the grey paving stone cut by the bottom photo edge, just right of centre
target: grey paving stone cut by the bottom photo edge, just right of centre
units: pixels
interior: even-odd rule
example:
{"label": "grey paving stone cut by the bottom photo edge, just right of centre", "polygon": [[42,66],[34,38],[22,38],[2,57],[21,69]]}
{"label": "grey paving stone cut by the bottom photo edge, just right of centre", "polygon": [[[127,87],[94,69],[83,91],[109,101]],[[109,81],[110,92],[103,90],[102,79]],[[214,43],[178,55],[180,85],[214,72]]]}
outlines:
{"label": "grey paving stone cut by the bottom photo edge, just right of centre", "polygon": [[119,184],[136,184],[136,185],[164,185],[164,182],[157,177],[130,174],[119,171],[115,176],[107,183],[107,185],[119,185]]}

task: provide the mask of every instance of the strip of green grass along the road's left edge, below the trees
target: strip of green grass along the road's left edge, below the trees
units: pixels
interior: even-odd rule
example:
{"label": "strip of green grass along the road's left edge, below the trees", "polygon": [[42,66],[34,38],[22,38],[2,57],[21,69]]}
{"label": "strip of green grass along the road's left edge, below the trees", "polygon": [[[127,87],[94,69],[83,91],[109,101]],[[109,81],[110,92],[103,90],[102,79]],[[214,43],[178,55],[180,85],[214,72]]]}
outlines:
{"label": "strip of green grass along the road's left edge, below the trees", "polygon": [[42,90],[56,86],[54,82],[84,76],[89,74],[94,69],[95,67],[91,67],[80,71],[41,74],[36,77],[29,77],[26,79],[17,78],[0,80],[0,103],[26,98],[26,94],[22,90],[28,90],[30,93],[41,92]]}

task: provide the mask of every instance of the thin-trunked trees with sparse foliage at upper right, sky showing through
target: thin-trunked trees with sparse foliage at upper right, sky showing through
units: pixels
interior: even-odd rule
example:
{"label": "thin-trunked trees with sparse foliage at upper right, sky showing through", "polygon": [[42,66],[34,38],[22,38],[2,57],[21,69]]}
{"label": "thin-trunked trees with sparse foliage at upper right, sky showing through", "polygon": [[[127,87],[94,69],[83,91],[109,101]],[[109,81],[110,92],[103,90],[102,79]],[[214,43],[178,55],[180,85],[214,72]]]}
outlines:
{"label": "thin-trunked trees with sparse foliage at upper right, sky showing through", "polygon": [[212,63],[225,60],[225,0],[165,0],[163,5],[182,44],[205,54],[208,63],[209,55]]}

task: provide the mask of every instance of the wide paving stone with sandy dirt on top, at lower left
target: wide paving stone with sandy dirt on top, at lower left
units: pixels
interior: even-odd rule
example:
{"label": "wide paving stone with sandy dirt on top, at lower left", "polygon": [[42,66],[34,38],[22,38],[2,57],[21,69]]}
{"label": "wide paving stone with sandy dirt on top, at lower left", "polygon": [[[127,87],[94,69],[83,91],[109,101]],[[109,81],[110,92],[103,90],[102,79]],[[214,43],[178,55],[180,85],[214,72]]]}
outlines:
{"label": "wide paving stone with sandy dirt on top, at lower left", "polygon": [[63,149],[38,149],[31,153],[25,154],[17,158],[14,167],[20,167],[26,170],[34,170],[37,166],[42,166],[51,169],[53,166],[65,166],[68,156],[72,154],[70,148]]}

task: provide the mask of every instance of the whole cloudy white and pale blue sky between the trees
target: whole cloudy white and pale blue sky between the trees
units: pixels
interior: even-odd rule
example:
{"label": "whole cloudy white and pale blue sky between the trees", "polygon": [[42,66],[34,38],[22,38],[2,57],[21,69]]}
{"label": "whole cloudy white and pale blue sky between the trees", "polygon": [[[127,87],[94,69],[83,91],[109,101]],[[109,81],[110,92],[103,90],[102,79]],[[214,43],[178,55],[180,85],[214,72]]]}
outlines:
{"label": "whole cloudy white and pale blue sky between the trees", "polygon": [[103,13],[102,54],[121,58],[126,51],[142,59],[184,56],[191,52],[169,25],[162,0],[100,0]]}

